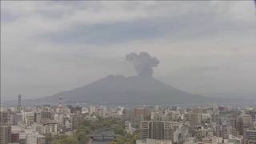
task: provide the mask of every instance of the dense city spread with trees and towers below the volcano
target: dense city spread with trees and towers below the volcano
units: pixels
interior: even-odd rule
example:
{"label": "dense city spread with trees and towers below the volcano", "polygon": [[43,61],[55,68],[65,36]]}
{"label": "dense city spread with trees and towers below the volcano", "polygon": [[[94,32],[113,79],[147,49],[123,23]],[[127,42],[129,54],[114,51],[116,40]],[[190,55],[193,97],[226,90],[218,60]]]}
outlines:
{"label": "dense city spread with trees and towers below the volcano", "polygon": [[1,144],[255,144],[256,108],[246,106],[1,107]]}

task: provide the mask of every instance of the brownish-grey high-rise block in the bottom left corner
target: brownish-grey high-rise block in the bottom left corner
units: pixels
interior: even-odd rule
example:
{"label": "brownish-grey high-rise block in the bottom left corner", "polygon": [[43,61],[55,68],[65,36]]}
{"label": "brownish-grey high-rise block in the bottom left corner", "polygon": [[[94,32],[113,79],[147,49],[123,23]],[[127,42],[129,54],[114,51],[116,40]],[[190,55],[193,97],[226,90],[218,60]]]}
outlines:
{"label": "brownish-grey high-rise block in the bottom left corner", "polygon": [[11,126],[0,126],[0,143],[7,144],[11,142]]}

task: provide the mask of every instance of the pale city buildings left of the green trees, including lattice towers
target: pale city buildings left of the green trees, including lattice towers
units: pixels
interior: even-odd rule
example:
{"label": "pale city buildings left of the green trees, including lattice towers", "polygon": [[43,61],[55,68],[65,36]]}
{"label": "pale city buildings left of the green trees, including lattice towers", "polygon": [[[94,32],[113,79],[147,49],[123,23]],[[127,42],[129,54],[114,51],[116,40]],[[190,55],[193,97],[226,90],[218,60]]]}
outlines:
{"label": "pale city buildings left of the green trees, including lattice towers", "polygon": [[64,105],[62,97],[58,106],[22,106],[21,96],[15,107],[1,107],[0,144],[46,144],[56,134],[75,134],[85,119],[122,117],[121,106],[71,106]]}

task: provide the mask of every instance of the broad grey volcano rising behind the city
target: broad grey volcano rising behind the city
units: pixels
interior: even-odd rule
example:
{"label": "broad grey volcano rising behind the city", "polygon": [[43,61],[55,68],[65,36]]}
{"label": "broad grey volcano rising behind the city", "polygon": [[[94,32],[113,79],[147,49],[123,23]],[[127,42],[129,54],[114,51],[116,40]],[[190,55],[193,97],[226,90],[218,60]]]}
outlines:
{"label": "broad grey volcano rising behind the city", "polygon": [[214,102],[214,98],[190,94],[160,82],[152,76],[109,75],[86,86],[67,90],[53,96],[37,99],[37,102],[77,103],[126,103],[126,104],[174,104]]}

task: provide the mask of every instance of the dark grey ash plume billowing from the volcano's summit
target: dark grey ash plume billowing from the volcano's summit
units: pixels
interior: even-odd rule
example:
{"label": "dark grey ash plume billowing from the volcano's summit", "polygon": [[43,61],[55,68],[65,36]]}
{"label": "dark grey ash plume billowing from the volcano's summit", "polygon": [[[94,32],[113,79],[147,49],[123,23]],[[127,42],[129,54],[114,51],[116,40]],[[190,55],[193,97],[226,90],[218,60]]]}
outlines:
{"label": "dark grey ash plume billowing from the volcano's summit", "polygon": [[130,53],[126,55],[126,60],[134,64],[138,76],[152,76],[154,73],[153,67],[158,66],[158,59],[151,57],[147,52],[140,52],[139,54]]}

